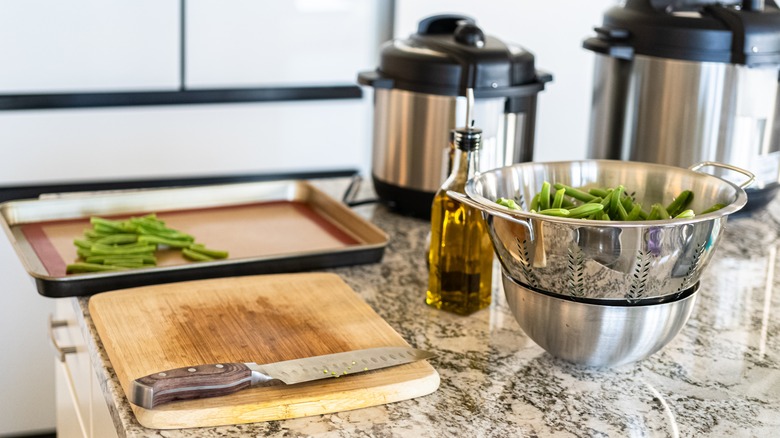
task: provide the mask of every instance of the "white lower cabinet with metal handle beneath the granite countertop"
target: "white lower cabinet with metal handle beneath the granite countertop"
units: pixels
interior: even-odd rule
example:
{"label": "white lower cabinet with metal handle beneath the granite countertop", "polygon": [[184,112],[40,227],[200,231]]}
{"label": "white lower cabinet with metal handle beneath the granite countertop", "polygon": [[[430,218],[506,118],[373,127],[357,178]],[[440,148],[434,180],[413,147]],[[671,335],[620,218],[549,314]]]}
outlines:
{"label": "white lower cabinet with metal handle beneath the granite countertop", "polygon": [[76,321],[72,299],[57,301],[56,315],[50,324],[57,351],[54,359],[57,436],[116,437],[84,336]]}

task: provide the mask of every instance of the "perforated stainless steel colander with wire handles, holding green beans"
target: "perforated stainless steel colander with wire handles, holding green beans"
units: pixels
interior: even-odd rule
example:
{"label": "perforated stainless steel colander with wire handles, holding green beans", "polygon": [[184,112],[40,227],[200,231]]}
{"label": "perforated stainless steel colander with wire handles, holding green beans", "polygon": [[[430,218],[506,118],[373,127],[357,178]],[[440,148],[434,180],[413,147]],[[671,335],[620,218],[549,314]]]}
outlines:
{"label": "perforated stainless steel colander with wire handles, holding green beans", "polygon": [[[718,163],[706,165],[741,169]],[[690,208],[725,207],[690,219],[596,221],[545,216],[527,210],[542,183],[616,187],[635,192],[645,208],[668,204],[691,190]],[[520,163],[489,170],[466,185],[463,202],[485,213],[503,269],[512,279],[545,291],[581,298],[625,299],[674,296],[699,281],[728,215],[745,205],[742,187],[692,169],[612,160]],[[526,211],[498,205],[514,199]]]}

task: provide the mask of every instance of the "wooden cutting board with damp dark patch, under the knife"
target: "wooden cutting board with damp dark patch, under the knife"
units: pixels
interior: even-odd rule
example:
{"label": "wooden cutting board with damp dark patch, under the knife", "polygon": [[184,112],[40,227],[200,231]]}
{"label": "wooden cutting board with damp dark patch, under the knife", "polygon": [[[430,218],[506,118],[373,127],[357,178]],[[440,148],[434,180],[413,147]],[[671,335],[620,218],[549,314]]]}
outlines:
{"label": "wooden cutting board with damp dark patch, under the knife", "polygon": [[[198,280],[94,295],[89,310],[119,382],[188,365],[270,363],[342,351],[408,346],[341,278],[305,273]],[[430,394],[426,361],[291,386],[132,405],[149,428],[178,429],[296,418]]]}

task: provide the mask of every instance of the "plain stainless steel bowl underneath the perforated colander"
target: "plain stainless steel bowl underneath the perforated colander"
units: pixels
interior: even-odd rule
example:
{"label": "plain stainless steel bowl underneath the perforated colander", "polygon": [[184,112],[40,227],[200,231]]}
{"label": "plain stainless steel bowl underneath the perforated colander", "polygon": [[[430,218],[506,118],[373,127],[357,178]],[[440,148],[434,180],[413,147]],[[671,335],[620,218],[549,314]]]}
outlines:
{"label": "plain stainless steel bowl underneath the perforated colander", "polygon": [[683,328],[698,283],[677,299],[649,305],[577,302],[503,276],[509,308],[523,331],[548,353],[594,367],[633,363],[657,352]]}

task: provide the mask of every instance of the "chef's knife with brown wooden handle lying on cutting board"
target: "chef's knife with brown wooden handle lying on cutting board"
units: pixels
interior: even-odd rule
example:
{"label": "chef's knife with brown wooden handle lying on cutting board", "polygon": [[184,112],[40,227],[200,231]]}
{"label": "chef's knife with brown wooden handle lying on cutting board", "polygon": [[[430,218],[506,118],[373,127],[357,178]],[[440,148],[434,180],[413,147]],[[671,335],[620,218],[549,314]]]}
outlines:
{"label": "chef's knife with brown wooden handle lying on cutting board", "polygon": [[130,402],[152,409],[173,400],[216,397],[250,386],[270,386],[343,377],[435,356],[407,347],[379,347],[271,364],[220,363],[176,368],[133,381]]}

